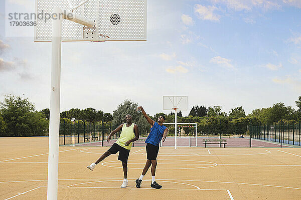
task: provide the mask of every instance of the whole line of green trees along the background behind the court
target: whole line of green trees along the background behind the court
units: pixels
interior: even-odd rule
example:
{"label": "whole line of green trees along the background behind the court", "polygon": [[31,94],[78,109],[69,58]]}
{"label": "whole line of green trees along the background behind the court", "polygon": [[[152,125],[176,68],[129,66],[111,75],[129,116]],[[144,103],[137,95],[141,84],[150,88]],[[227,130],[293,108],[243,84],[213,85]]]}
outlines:
{"label": "whole line of green trees along the background behind the court", "polygon": [[[178,122],[197,122],[198,132],[202,134],[241,134],[247,130],[247,125],[272,124],[281,120],[289,124],[301,120],[301,96],[295,101],[297,109],[285,106],[279,102],[271,107],[254,109],[251,114],[246,115],[242,106],[235,107],[229,113],[222,112],[221,106],[199,106],[191,108],[189,116],[177,113]],[[120,124],[125,122],[126,114],[131,114],[133,122],[139,126],[141,134],[149,132],[150,125],[144,119],[141,112],[136,110],[138,104],[129,99],[120,103],[116,110],[104,113],[95,108],[72,108],[60,113],[61,123],[66,127],[71,126],[72,120],[83,122],[89,119],[91,122],[106,122]],[[154,120],[163,113],[157,113]],[[175,113],[166,115],[166,122],[174,122]],[[40,136],[47,135],[49,127],[49,108],[37,111],[35,105],[28,98],[6,95],[0,102],[0,136]],[[184,128],[188,132],[188,128]],[[170,134],[174,133],[174,127],[170,126]]]}

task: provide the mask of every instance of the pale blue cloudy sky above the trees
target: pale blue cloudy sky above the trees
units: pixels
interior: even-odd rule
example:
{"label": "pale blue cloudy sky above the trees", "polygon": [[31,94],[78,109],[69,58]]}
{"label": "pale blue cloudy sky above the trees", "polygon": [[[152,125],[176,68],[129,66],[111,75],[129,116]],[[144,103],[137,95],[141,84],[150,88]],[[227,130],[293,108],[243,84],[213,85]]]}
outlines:
{"label": "pale blue cloudy sky above the trees", "polygon": [[[34,42],[30,27],[8,31],[12,11],[35,12],[35,1],[0,1],[0,100],[49,108],[51,42]],[[300,0],[148,0],[146,41],[62,43],[60,109],[112,113],[131,99],[154,115],[163,95],[187,95],[184,116],[194,105],[296,108],[300,18]]]}

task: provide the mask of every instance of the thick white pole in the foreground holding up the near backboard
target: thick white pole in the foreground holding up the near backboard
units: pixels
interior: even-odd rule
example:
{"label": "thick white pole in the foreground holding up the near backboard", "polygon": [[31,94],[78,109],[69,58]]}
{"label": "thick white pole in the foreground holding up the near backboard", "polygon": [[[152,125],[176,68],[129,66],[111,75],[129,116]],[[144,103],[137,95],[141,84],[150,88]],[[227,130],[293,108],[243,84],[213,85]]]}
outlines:
{"label": "thick white pole in the foreground holding up the near backboard", "polygon": [[[53,13],[59,15],[62,13],[62,9],[54,7]],[[56,16],[54,15],[54,17]],[[62,20],[63,18],[60,16],[57,16],[56,19],[53,18],[52,20],[53,29],[47,184],[48,200],[56,200],[58,198]]]}

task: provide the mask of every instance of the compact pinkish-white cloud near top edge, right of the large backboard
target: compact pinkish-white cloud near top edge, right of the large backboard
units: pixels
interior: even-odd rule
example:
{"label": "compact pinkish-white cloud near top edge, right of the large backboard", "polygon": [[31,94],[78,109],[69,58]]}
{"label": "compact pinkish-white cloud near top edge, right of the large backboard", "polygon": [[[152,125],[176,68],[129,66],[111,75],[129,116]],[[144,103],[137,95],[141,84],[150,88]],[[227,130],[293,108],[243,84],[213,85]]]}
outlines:
{"label": "compact pinkish-white cloud near top edge, right of the large backboard", "polygon": [[202,20],[211,20],[211,21],[219,21],[220,16],[214,14],[213,11],[216,10],[215,6],[203,6],[201,4],[196,4],[194,7],[194,11],[198,18]]}

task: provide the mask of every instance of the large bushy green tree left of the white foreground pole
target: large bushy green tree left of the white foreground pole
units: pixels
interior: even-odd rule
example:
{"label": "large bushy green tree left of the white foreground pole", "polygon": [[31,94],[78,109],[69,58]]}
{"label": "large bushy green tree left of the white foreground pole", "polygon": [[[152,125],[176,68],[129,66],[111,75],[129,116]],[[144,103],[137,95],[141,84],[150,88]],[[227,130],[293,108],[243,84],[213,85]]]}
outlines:
{"label": "large bushy green tree left of the white foreground pole", "polygon": [[42,112],[35,111],[35,105],[28,98],[6,95],[0,103],[0,113],[5,122],[5,130],[0,136],[39,136],[47,133],[48,121]]}

